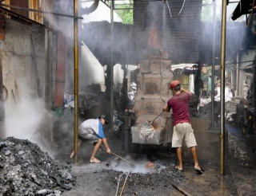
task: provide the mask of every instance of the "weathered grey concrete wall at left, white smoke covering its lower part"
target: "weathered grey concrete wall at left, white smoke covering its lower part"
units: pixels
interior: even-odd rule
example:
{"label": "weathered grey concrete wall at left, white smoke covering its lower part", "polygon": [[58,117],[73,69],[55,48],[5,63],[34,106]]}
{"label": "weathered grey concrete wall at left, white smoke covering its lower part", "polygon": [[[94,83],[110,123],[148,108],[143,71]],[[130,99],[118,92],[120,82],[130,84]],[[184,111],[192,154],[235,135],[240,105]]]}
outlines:
{"label": "weathered grey concrete wall at left, white smoke covering its lower part", "polygon": [[[9,18],[5,18],[5,21],[5,39],[0,41],[2,80],[6,87],[4,97],[7,98],[4,102],[6,126],[2,127],[2,132],[6,129],[6,136],[32,139],[45,127],[43,119],[46,112],[42,101],[46,76],[45,28],[36,23],[16,22]],[[38,96],[38,80],[42,98]],[[48,138],[51,138],[51,132],[46,134]]]}

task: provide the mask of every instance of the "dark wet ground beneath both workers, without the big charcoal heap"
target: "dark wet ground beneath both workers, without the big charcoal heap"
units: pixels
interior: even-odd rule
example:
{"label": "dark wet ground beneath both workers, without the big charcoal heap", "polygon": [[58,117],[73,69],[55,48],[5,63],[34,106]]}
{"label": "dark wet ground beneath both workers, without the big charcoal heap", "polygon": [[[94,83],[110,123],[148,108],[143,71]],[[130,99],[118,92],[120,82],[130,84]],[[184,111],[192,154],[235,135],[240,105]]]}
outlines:
{"label": "dark wet ground beneath both workers, without the big charcoal heap", "polygon": [[[62,195],[255,195],[256,155],[246,146],[239,132],[230,131],[229,135],[229,159],[226,160],[224,175],[220,174],[219,163],[215,160],[200,160],[205,172],[199,175],[194,171],[192,162],[184,163],[182,172],[176,171],[175,154],[168,158],[154,159],[146,156],[125,156],[125,159],[136,164],[136,167],[131,167],[129,163],[100,151],[98,159],[102,163],[89,163],[90,155],[82,155],[84,160],[80,164],[71,163],[77,184]],[[84,151],[91,149],[88,145],[84,147]],[[115,153],[122,155],[119,150],[113,149]],[[154,167],[147,168],[148,163],[154,163]],[[123,175],[118,186],[121,174]]]}

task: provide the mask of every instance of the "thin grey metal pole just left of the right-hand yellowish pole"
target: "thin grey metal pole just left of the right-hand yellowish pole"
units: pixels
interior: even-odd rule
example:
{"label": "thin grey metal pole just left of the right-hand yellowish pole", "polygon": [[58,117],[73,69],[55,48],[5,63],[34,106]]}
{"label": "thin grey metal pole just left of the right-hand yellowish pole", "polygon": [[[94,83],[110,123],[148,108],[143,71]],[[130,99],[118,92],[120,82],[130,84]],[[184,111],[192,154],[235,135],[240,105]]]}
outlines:
{"label": "thin grey metal pole just left of the right-hand yellowish pole", "polygon": [[214,6],[214,18],[213,18],[213,65],[211,67],[211,127],[214,127],[214,76],[215,76],[215,40],[216,40],[216,2],[213,2]]}

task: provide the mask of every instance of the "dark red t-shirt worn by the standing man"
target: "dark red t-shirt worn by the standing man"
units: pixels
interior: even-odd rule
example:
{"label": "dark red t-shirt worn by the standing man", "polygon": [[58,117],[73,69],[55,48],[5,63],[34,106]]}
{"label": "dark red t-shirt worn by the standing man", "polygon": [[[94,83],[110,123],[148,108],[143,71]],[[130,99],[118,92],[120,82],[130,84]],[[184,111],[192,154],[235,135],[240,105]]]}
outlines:
{"label": "dark red t-shirt worn by the standing man", "polygon": [[173,109],[174,125],[178,123],[190,123],[190,112],[188,104],[190,98],[190,93],[182,92],[168,100],[168,108]]}

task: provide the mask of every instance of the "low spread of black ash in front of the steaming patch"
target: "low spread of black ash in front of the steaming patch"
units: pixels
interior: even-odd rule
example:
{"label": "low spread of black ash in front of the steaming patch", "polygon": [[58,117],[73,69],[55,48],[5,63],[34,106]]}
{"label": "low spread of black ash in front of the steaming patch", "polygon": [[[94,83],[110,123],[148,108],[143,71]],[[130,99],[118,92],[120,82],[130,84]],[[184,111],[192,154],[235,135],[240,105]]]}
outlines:
{"label": "low spread of black ash in front of the steaming patch", "polygon": [[168,195],[170,189],[174,188],[173,185],[186,182],[185,175],[172,165],[158,167],[158,164],[154,164],[154,170],[146,174],[111,170],[102,172],[109,173],[113,187],[118,192],[125,183],[123,195]]}

